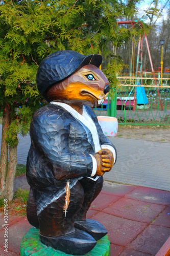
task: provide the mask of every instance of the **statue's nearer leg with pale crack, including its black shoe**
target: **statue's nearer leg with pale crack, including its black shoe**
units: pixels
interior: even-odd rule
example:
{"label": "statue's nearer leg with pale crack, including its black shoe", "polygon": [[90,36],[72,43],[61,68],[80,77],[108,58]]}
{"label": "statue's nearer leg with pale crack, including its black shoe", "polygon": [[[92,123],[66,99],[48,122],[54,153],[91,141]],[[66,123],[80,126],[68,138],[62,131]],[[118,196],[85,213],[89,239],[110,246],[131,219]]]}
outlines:
{"label": "statue's nearer leg with pale crack, including its black shoe", "polygon": [[92,250],[96,241],[88,233],[75,230],[74,227],[83,199],[84,191],[78,181],[67,193],[40,212],[38,220],[43,244],[74,255]]}

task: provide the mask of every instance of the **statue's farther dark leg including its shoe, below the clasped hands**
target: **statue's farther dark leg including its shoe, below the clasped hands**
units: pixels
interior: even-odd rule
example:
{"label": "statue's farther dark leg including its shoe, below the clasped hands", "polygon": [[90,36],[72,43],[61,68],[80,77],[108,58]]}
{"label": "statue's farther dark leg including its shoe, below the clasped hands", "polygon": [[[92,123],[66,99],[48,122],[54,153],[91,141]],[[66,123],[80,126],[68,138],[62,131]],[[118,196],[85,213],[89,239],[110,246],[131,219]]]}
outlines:
{"label": "statue's farther dark leg including its shoe, below the clasped hands", "polygon": [[78,212],[75,227],[89,233],[96,241],[107,234],[106,228],[98,221],[86,219],[87,211],[92,201],[99,195],[103,187],[103,177],[94,181],[88,178],[80,180],[84,189],[84,202]]}

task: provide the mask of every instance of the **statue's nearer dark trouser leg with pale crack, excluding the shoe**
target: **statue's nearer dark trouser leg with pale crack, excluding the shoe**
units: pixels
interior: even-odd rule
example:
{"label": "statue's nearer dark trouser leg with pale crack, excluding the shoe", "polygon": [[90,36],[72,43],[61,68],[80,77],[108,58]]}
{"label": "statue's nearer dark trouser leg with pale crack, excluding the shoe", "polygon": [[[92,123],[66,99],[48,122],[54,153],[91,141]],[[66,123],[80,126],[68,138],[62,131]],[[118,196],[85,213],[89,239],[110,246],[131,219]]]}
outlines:
{"label": "statue's nearer dark trouser leg with pale crack, excluding the shoe", "polygon": [[38,215],[40,234],[60,237],[74,232],[75,218],[82,206],[83,198],[83,188],[77,182],[69,189],[69,194],[64,193],[56,201],[48,204]]}

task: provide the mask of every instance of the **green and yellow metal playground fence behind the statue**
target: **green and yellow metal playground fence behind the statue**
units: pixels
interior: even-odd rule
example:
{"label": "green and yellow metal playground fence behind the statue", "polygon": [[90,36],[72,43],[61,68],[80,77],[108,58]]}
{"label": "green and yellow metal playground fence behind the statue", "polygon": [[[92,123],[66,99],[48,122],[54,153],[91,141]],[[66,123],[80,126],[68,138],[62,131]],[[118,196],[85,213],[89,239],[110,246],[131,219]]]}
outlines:
{"label": "green and yellow metal playground fence behind the statue", "polygon": [[109,97],[103,105],[95,108],[96,115],[110,116],[114,108],[114,116],[119,124],[170,124],[170,78],[162,78],[162,85],[158,77],[156,81],[153,77],[142,77],[140,80],[136,77],[118,79],[120,84],[113,100]]}

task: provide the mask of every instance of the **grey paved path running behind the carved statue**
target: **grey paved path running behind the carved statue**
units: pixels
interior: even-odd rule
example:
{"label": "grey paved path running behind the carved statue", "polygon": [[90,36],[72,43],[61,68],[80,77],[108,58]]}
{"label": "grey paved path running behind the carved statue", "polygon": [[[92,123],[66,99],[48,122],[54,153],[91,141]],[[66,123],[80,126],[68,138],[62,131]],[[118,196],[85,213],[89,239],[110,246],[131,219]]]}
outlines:
{"label": "grey paved path running behind the carved statue", "polygon": [[[0,124],[0,140],[2,124]],[[170,190],[170,143],[109,137],[117,148],[117,162],[104,175],[107,181]],[[17,160],[26,164],[30,136],[19,135]]]}

